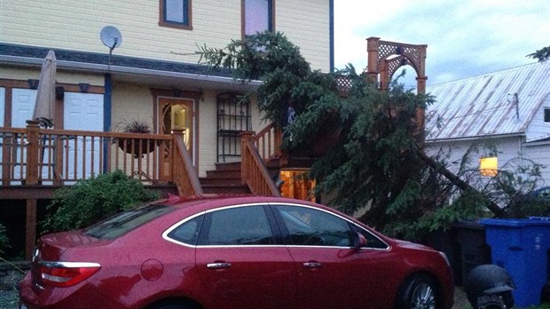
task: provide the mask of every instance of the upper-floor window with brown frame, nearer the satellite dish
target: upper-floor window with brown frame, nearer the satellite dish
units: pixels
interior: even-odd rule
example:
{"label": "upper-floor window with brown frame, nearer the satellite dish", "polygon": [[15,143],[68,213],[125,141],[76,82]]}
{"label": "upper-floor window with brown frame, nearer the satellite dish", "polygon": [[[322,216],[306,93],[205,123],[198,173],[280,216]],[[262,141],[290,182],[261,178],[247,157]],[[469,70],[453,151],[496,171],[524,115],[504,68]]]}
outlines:
{"label": "upper-floor window with brown frame, nearer the satellite dish", "polygon": [[193,29],[191,25],[191,0],[161,0],[163,27]]}

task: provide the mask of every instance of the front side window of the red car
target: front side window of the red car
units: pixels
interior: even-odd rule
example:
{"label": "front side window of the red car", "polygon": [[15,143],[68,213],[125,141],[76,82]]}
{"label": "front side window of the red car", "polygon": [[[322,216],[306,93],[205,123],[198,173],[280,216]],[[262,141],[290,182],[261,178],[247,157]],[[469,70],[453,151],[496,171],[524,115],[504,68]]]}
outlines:
{"label": "front side window of the red car", "polygon": [[322,210],[277,206],[287,227],[290,244],[297,246],[350,247],[353,232],[348,221]]}

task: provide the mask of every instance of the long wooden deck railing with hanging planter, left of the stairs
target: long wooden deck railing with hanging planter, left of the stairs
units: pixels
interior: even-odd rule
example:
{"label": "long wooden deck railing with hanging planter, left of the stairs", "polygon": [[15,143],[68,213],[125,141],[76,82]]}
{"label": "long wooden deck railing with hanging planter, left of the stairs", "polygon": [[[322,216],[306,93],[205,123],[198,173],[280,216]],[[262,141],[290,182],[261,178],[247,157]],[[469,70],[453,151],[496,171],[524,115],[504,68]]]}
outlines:
{"label": "long wooden deck railing with hanging planter, left of the stairs", "polygon": [[145,185],[174,183],[187,192],[182,179],[197,176],[189,167],[191,159],[182,158],[189,156],[182,145],[177,134],[41,129],[34,121],[27,122],[27,128],[0,127],[0,185],[65,186],[122,170]]}

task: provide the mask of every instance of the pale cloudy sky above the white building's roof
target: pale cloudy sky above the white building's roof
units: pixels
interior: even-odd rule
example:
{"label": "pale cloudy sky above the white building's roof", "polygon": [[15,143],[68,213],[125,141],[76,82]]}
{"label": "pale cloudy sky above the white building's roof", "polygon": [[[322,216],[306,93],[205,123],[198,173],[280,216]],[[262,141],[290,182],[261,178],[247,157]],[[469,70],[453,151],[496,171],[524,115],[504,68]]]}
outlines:
{"label": "pale cloudy sky above the white building's roof", "polygon": [[[366,67],[366,38],[428,44],[430,84],[520,67],[550,45],[550,0],[335,0],[334,65]],[[415,86],[406,70],[402,83]]]}

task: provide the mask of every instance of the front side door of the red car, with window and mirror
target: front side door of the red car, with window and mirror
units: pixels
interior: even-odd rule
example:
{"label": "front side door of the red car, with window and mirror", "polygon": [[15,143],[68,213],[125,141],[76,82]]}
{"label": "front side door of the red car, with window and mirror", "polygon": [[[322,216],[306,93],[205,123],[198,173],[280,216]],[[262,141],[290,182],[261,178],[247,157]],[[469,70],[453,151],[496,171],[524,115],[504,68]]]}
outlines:
{"label": "front side door of the red car, with window and mirror", "polygon": [[295,261],[299,307],[391,306],[395,294],[385,288],[384,278],[393,262],[384,242],[363,230],[379,248],[358,250],[353,247],[358,226],[344,218],[306,206],[276,205],[274,210]]}

